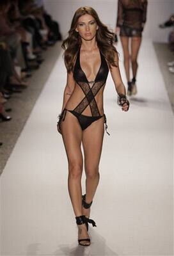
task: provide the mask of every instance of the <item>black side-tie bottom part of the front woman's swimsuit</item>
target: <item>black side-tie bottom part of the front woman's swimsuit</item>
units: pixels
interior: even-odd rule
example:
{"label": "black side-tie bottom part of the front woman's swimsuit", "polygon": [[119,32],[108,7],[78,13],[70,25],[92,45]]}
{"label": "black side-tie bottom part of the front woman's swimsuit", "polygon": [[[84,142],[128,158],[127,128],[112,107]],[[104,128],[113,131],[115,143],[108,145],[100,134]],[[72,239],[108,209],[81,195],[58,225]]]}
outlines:
{"label": "black side-tie bottom part of the front woman's swimsuit", "polygon": [[[102,118],[104,116],[104,124],[106,125],[105,129],[106,129],[106,132],[107,132],[107,124],[106,124],[106,115],[105,114],[102,115],[102,116],[85,116],[85,115],[82,115],[82,114],[79,114],[79,113],[75,112],[74,110],[63,109],[63,112],[61,113],[61,120],[62,121],[65,120],[65,116],[66,116],[67,111],[69,111],[70,113],[72,113],[72,115],[77,117],[77,120],[79,121],[79,124],[81,125],[82,130],[86,129],[93,122],[99,120],[100,118]],[[109,133],[107,132],[107,134],[109,134]]]}

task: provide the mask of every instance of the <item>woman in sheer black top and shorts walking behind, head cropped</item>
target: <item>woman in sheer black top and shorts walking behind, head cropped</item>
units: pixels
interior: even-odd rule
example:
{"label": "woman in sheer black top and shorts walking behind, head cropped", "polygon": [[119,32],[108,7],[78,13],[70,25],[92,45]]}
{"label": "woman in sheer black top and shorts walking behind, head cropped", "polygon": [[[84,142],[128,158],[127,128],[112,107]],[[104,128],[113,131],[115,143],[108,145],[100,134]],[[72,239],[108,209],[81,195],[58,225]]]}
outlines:
{"label": "woman in sheer black top and shorts walking behind, head cropped", "polygon": [[[137,58],[142,40],[142,31],[146,22],[146,8],[147,0],[118,0],[116,33],[120,31],[125,74],[128,84],[127,95],[135,95],[137,93]],[[129,51],[129,41],[131,41],[131,51]],[[133,76],[132,81],[129,72],[130,60]]]}

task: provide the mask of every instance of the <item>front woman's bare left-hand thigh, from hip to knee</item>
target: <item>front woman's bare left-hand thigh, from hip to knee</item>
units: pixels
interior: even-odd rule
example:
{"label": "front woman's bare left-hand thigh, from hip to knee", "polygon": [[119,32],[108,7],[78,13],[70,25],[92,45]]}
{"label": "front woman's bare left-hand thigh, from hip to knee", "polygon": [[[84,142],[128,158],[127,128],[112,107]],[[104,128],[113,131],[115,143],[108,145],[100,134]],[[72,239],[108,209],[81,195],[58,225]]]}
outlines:
{"label": "front woman's bare left-hand thigh, from hip to knee", "polygon": [[61,122],[61,134],[67,153],[68,164],[80,164],[83,166],[81,152],[82,130],[77,118],[68,111],[65,120]]}

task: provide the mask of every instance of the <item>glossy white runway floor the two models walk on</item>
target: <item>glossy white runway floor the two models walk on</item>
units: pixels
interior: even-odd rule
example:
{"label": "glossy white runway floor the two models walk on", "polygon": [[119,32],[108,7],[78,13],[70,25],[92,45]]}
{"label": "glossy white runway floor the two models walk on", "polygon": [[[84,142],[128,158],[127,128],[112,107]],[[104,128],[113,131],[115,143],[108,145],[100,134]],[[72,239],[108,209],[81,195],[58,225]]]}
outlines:
{"label": "glossy white runway floor the two models walk on", "polygon": [[107,79],[111,136],[104,136],[91,210],[97,228],[90,228],[87,248],[77,245],[67,157],[56,131],[65,82],[59,56],[0,177],[1,255],[173,255],[173,113],[152,42],[141,46],[138,95],[128,113]]}

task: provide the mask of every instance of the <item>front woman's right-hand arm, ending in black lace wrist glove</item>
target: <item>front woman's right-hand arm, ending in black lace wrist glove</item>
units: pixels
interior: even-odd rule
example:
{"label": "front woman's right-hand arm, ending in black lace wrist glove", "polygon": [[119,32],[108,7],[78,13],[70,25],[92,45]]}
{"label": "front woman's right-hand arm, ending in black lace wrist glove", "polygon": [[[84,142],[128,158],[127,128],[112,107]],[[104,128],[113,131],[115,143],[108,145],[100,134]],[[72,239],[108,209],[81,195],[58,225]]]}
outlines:
{"label": "front woman's right-hand arm, ending in black lace wrist glove", "polygon": [[111,66],[111,76],[113,77],[113,82],[115,83],[115,89],[118,94],[118,100],[120,101],[120,106],[122,106],[122,109],[124,111],[127,111],[129,109],[129,101],[126,97],[126,90],[125,86],[122,81],[122,77],[120,74],[120,68],[118,65],[118,54],[115,52],[115,63],[116,66]]}

